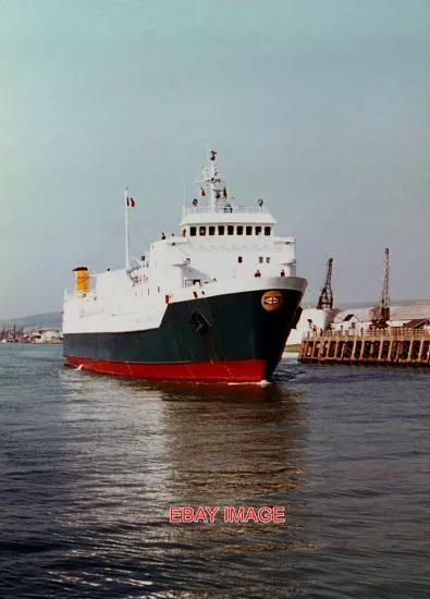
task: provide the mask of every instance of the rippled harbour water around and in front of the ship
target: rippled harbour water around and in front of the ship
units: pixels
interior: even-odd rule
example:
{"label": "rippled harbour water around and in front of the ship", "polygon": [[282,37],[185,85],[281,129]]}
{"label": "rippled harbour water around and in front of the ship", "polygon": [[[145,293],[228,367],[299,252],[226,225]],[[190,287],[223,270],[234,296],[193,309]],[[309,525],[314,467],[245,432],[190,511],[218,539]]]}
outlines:
{"label": "rippled harbour water around and in front of the ship", "polygon": [[[0,346],[0,597],[430,597],[429,372],[175,386]],[[285,524],[170,524],[283,505]]]}

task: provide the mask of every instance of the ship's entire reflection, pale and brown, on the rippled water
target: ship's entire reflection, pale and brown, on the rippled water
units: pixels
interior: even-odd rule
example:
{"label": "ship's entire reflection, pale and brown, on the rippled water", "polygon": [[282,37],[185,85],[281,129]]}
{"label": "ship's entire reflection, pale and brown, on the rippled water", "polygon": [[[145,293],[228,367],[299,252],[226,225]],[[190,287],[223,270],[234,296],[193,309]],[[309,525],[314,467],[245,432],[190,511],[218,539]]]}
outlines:
{"label": "ship's entire reflection, pale and brown, on the rippled water", "polygon": [[[91,557],[97,540],[98,557],[110,562],[125,553],[127,569],[145,550],[146,562],[162,563],[177,590],[199,572],[201,585],[194,584],[201,596],[208,584],[217,587],[220,561],[228,560],[224,577],[238,589],[237,557],[282,555],[300,545],[294,524],[299,502],[291,499],[304,469],[300,392],[281,384],[148,384],[71,369],[60,382],[62,420],[78,435],[64,439],[70,497],[59,525],[73,537],[79,531],[79,545],[91,548],[73,549],[60,570]],[[169,523],[171,505],[218,505],[221,512],[266,504],[283,505],[286,524],[228,524],[221,514],[213,524]],[[149,584],[151,570],[138,570]],[[257,587],[247,582],[248,592]]]}

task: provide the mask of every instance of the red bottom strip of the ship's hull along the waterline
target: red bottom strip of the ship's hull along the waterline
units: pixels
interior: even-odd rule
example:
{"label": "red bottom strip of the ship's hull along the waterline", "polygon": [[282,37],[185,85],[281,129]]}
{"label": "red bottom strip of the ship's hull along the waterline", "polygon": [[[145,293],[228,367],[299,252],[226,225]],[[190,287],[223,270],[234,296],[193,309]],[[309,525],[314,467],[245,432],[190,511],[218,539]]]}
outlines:
{"label": "red bottom strip of the ship's hull along the waterline", "polygon": [[76,368],[102,375],[146,380],[260,382],[266,377],[266,360],[243,359],[195,364],[130,364],[64,356]]}

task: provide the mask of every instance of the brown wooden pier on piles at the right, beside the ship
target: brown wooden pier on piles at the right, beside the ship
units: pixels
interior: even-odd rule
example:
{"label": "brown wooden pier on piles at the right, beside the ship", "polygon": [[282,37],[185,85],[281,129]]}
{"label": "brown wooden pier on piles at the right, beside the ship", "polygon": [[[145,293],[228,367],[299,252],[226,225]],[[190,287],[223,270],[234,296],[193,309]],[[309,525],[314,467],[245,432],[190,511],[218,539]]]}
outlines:
{"label": "brown wooden pier on piles at the right, beside the ship", "polygon": [[430,366],[430,332],[422,329],[309,332],[298,360],[309,364]]}

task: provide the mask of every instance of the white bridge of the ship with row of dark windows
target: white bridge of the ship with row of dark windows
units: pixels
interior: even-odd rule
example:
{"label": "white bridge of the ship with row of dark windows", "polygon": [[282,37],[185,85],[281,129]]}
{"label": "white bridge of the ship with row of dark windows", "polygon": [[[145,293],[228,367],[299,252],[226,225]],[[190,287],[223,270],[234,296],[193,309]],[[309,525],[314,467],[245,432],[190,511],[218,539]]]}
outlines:
{"label": "white bridge of the ship with row of dark windows", "polygon": [[181,222],[183,237],[207,235],[271,236],[275,219],[261,205],[235,206],[231,203],[185,207]]}

